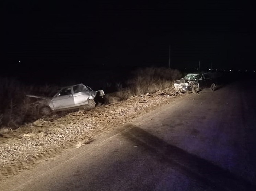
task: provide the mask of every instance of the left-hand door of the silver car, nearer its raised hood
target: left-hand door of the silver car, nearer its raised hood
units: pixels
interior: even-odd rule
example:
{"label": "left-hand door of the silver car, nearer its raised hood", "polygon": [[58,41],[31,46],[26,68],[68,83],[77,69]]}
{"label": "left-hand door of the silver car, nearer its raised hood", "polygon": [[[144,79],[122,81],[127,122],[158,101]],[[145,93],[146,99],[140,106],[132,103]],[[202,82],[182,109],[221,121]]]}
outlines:
{"label": "left-hand door of the silver car, nearer its raised hood", "polygon": [[62,88],[53,98],[54,110],[74,107],[74,97],[72,87]]}

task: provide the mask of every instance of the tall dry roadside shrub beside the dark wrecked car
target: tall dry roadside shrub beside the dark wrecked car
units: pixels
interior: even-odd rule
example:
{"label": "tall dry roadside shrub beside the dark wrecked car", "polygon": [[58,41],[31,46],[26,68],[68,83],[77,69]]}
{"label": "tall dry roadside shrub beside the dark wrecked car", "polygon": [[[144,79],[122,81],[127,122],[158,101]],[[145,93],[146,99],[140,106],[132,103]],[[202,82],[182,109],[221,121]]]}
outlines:
{"label": "tall dry roadside shrub beside the dark wrecked car", "polygon": [[171,68],[140,68],[132,72],[127,85],[133,95],[154,93],[173,85],[173,81],[181,78],[181,72]]}

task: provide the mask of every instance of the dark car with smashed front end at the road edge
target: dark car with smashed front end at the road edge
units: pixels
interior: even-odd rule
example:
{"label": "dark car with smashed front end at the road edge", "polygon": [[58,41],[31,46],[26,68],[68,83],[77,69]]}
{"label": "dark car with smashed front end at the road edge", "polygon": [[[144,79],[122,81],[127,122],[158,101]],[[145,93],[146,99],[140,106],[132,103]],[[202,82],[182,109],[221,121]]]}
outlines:
{"label": "dark car with smashed front end at the road edge", "polygon": [[181,80],[174,82],[174,88],[177,92],[193,92],[210,88],[213,92],[217,82],[211,78],[208,73],[189,73]]}

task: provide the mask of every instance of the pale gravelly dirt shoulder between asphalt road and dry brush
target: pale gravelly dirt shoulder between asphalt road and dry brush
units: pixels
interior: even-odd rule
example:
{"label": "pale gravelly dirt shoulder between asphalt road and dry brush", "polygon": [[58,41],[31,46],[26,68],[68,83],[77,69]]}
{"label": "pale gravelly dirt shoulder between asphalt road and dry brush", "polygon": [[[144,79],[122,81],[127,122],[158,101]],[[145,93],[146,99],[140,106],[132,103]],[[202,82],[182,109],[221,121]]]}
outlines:
{"label": "pale gravelly dirt shoulder between asphalt road and dry brush", "polygon": [[186,94],[175,94],[170,88],[97,106],[91,111],[79,110],[62,117],[42,118],[15,131],[2,132],[0,180],[31,169],[66,149],[88,144],[98,136],[184,96]]}

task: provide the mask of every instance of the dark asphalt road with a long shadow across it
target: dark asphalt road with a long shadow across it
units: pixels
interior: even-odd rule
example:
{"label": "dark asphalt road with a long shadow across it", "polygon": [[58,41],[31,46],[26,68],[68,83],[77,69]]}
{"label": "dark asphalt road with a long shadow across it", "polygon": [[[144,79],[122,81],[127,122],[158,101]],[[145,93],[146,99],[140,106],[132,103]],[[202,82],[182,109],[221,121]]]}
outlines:
{"label": "dark asphalt road with a long shadow across it", "polygon": [[2,184],[2,191],[256,190],[256,88],[177,99]]}

